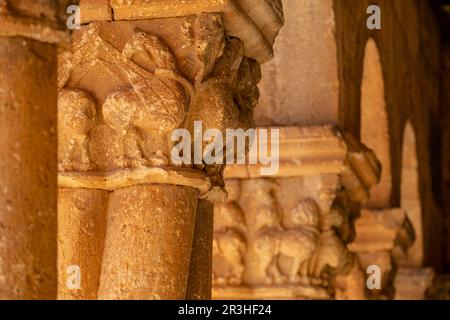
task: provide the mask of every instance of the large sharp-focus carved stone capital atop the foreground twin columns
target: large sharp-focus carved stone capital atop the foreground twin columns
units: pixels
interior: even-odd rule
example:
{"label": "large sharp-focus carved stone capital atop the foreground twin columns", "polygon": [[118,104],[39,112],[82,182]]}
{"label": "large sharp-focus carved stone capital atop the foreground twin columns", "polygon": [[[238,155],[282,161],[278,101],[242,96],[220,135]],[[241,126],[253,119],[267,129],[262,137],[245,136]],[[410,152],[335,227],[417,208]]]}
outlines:
{"label": "large sharp-focus carved stone capital atop the foreground twin columns", "polygon": [[220,14],[93,22],[59,60],[61,187],[220,185],[221,170],[171,163],[175,129],[252,125],[259,64]]}

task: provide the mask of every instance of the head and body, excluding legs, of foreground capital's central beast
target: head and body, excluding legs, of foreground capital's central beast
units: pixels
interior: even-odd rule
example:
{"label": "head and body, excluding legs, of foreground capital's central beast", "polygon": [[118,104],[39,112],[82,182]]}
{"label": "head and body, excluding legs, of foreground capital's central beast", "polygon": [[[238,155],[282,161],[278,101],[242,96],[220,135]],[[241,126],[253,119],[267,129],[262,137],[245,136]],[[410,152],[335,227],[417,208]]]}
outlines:
{"label": "head and body, excluding legs, of foreground capital's central beast", "polygon": [[112,92],[103,105],[106,123],[118,132],[131,127],[166,132],[181,124],[192,95],[175,57],[157,37],[136,31],[122,58],[130,87]]}

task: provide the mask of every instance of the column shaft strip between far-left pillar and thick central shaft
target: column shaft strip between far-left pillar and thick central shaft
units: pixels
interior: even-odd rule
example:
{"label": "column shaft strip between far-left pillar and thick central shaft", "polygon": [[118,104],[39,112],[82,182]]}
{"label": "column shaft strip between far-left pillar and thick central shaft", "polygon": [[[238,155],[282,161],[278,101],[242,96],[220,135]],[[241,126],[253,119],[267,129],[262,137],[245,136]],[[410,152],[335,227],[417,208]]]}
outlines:
{"label": "column shaft strip between far-left pillar and thick central shaft", "polygon": [[[58,299],[96,299],[109,192],[60,188],[58,194]],[[67,285],[78,276],[80,288]]]}

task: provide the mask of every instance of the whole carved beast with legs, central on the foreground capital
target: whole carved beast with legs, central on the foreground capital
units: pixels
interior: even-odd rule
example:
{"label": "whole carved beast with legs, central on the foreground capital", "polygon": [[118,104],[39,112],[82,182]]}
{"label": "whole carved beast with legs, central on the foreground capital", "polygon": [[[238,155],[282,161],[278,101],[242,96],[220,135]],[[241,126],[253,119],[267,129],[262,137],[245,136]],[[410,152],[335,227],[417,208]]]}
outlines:
{"label": "whole carved beast with legs, central on the foreground capital", "polygon": [[167,165],[170,146],[164,135],[183,122],[192,86],[179,76],[175,57],[155,36],[137,31],[122,56],[130,87],[112,92],[102,109],[124,145],[122,166]]}

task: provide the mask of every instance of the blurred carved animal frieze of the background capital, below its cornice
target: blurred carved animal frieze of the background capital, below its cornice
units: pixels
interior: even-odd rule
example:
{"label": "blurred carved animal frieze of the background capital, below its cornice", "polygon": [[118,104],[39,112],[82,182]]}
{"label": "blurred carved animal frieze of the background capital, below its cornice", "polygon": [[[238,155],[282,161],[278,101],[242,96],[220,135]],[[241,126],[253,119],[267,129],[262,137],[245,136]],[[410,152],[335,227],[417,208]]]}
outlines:
{"label": "blurred carved animal frieze of the background capital, below its cornice", "polygon": [[[346,246],[354,235],[352,219],[345,198],[338,196],[337,181],[226,180],[231,197],[216,206],[214,250],[220,257],[214,255],[213,266],[223,272],[234,261],[233,270],[242,278],[216,276],[215,288],[281,286],[332,292],[332,277],[355,265]],[[223,241],[228,241],[227,249],[219,247]]]}

